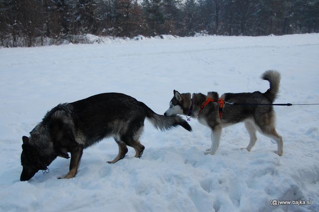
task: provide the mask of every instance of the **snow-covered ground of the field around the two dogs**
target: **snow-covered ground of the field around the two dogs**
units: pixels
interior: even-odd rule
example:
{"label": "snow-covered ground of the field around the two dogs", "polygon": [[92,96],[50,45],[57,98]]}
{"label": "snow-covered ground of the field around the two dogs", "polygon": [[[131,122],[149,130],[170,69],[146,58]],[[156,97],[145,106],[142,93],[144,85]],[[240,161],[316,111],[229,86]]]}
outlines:
{"label": "snow-covered ground of the field around the two dogs", "polygon": [[[115,163],[111,138],[84,150],[78,174],[57,158],[50,173],[20,182],[21,137],[47,110],[105,92],[125,93],[162,114],[181,93],[265,92],[266,70],[281,73],[275,103],[319,103],[319,34],[146,39],[0,49],[0,211],[283,212],[319,211],[319,106],[276,106],[277,145],[257,134],[251,152],[243,123],[224,128],[216,155],[210,130],[158,131],[145,121],[141,159]],[[119,103],[121,104],[121,103]],[[184,117],[185,118],[185,117]],[[311,205],[271,206],[271,200]]]}

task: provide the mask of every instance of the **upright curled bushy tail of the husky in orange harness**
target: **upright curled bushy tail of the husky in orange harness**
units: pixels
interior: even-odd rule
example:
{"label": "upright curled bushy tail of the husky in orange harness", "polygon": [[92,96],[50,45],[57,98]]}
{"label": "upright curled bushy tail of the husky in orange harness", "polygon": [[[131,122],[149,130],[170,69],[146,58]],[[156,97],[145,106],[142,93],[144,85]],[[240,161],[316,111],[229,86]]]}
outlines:
{"label": "upright curled bushy tail of the husky in orange harness", "polygon": [[264,95],[273,103],[279,93],[280,73],[278,71],[268,70],[261,76],[261,79],[269,81],[270,88]]}

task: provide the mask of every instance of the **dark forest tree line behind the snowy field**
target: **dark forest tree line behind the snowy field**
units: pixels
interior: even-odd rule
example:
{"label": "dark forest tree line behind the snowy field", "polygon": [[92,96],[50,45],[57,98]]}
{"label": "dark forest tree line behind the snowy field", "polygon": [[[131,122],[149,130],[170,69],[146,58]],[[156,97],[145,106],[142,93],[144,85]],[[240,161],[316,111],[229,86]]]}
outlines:
{"label": "dark forest tree line behind the snowy field", "polygon": [[319,0],[0,0],[0,46],[34,46],[44,38],[71,42],[74,35],[86,33],[133,37],[196,32],[319,32]]}

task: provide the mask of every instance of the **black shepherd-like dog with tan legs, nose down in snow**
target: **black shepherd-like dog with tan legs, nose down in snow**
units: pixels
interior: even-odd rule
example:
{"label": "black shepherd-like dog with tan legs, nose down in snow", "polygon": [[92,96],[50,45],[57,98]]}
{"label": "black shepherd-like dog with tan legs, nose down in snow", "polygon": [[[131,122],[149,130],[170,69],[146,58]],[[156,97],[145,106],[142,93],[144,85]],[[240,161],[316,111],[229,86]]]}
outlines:
{"label": "black shepherd-like dog with tan legs, nose down in snow", "polygon": [[119,153],[108,163],[123,159],[128,152],[127,145],[135,149],[135,157],[141,157],[145,147],[139,138],[145,117],[160,130],[180,125],[191,131],[181,117],[159,115],[125,94],[98,94],[54,107],[34,127],[29,138],[22,137],[20,181],[31,179],[38,170],[47,170],[57,156],[69,158],[68,152],[71,153],[70,170],[63,178],[73,178],[83,149],[110,136],[118,144]]}

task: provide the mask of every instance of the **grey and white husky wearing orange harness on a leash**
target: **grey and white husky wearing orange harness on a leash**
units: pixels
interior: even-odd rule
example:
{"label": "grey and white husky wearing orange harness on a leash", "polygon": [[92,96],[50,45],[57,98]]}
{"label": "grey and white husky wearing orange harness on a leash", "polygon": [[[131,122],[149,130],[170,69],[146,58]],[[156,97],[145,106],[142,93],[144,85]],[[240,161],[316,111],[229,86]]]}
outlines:
{"label": "grey and white husky wearing orange harness on a leash", "polygon": [[[180,94],[174,90],[174,97],[169,103],[165,116],[184,114],[197,117],[198,121],[208,126],[211,132],[211,148],[205,154],[215,154],[219,146],[222,128],[244,122],[249,133],[248,151],[255,145],[256,131],[274,139],[277,142],[277,153],[283,154],[283,138],[275,129],[275,111],[273,106],[279,92],[280,74],[277,71],[266,71],[262,77],[270,83],[270,89],[265,93],[226,93],[219,99],[216,92],[206,95],[190,93]],[[234,103],[232,105],[232,103]]]}

